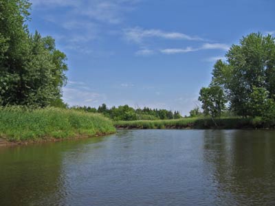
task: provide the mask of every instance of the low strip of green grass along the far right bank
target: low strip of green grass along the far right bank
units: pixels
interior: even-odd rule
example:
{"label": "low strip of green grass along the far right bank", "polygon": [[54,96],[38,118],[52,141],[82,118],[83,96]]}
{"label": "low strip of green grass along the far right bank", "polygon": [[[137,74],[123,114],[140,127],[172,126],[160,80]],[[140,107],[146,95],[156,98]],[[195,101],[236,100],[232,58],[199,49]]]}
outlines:
{"label": "low strip of green grass along the far right bank", "polygon": [[[218,128],[263,128],[261,118],[222,117],[215,120]],[[170,120],[137,120],[114,122],[117,128],[140,128],[140,129],[162,129],[162,128],[217,128],[212,119],[209,118],[182,118]]]}

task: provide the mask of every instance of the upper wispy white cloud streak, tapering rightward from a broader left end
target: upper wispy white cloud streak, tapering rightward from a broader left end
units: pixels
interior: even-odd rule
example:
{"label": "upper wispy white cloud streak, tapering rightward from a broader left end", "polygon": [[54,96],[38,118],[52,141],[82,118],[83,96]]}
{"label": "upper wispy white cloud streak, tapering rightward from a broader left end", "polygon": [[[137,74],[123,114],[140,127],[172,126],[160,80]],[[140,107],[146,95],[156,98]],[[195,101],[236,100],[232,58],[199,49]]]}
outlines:
{"label": "upper wispy white cloud streak, tapering rightward from a broader left end", "polygon": [[142,43],[144,38],[165,38],[165,39],[181,39],[188,41],[203,41],[198,36],[189,36],[179,32],[164,32],[162,30],[144,30],[141,27],[133,27],[124,30],[124,35],[129,41]]}

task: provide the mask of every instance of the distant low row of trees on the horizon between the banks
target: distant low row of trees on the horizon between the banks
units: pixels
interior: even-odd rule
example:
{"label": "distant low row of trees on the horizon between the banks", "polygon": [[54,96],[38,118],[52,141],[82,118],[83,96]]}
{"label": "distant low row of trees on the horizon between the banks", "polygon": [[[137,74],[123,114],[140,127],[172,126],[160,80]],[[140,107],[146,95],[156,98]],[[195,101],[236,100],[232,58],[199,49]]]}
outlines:
{"label": "distant low row of trees on the horizon between the banks", "polygon": [[115,121],[124,120],[155,120],[155,119],[179,119],[181,115],[179,111],[168,111],[166,109],[157,108],[132,108],[124,105],[118,107],[107,108],[106,104],[98,106],[98,108],[90,106],[73,106],[72,109],[79,111],[86,111],[88,113],[102,113],[105,117],[109,117]]}

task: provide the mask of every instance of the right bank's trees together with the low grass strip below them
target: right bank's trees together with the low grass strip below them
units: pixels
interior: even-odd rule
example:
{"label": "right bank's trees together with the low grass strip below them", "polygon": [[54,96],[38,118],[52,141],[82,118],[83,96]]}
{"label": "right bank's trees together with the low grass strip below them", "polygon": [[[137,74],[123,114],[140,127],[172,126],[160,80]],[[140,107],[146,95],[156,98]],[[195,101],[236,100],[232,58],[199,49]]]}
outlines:
{"label": "right bank's trees together with the low grass strip below them", "polygon": [[[275,126],[275,38],[250,34],[218,60],[191,118],[115,122],[118,128],[263,128]],[[232,117],[235,115],[235,117]]]}

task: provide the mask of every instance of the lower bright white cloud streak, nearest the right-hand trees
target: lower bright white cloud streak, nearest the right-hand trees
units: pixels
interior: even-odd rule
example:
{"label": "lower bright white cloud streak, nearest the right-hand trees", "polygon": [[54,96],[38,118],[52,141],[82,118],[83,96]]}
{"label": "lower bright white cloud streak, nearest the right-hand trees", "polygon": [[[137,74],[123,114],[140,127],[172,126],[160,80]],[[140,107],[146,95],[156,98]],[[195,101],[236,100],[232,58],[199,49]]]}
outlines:
{"label": "lower bright white cloud streak, nearest the right-hand trees", "polygon": [[182,54],[187,52],[197,52],[199,50],[207,50],[207,49],[221,49],[227,51],[230,48],[229,45],[220,44],[220,43],[205,43],[201,47],[186,47],[186,48],[166,48],[160,49],[159,52],[162,54]]}

